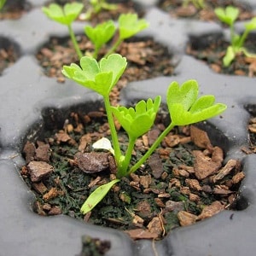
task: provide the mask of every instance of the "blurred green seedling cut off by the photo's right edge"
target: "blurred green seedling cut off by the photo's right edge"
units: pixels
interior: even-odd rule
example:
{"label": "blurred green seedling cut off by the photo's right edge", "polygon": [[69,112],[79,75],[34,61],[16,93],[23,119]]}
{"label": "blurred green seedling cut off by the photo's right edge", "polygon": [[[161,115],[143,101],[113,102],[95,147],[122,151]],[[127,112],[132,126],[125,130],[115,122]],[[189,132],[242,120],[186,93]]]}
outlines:
{"label": "blurred green seedling cut off by the photo's right edge", "polygon": [[231,62],[234,61],[236,55],[238,53],[243,53],[248,57],[255,57],[252,53],[249,53],[247,49],[244,47],[245,40],[249,32],[256,29],[256,17],[254,17],[249,22],[245,23],[244,32],[239,35],[235,32],[235,22],[239,15],[239,9],[233,6],[227,6],[224,8],[217,8],[214,10],[218,19],[230,26],[230,46],[226,50],[226,54],[224,55],[223,63],[224,67],[229,67]]}

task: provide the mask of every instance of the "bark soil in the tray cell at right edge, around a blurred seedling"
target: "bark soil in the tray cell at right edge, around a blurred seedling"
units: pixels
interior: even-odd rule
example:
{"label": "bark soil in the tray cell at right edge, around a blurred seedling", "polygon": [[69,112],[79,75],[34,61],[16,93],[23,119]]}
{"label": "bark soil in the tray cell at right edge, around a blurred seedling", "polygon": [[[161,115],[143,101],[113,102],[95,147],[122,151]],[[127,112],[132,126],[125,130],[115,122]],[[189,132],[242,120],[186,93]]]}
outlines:
{"label": "bark soil in the tray cell at right edge, around a blurred seedling", "polygon": [[[222,35],[212,34],[198,37],[190,37],[186,53],[194,56],[196,59],[204,61],[216,73],[225,73],[230,75],[241,75],[255,77],[256,58],[247,57],[243,53],[237,54],[229,67],[224,67],[223,58],[226,49],[230,45]],[[244,47],[248,52],[256,54],[256,37],[249,35]]]}

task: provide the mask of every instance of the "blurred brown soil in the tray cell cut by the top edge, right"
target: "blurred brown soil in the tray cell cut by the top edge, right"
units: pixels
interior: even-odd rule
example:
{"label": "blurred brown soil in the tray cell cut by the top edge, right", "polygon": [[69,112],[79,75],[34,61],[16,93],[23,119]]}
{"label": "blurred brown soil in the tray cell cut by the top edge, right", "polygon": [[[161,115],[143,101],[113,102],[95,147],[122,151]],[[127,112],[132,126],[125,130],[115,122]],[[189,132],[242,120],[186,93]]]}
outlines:
{"label": "blurred brown soil in the tray cell cut by the top edge, right", "polygon": [[203,2],[205,3],[203,8],[196,8],[191,1],[187,5],[184,5],[183,0],[161,0],[159,7],[177,18],[218,21],[218,18],[214,14],[214,9],[232,5],[240,10],[238,20],[248,20],[253,17],[252,10],[246,3],[240,3],[236,0],[205,0]]}

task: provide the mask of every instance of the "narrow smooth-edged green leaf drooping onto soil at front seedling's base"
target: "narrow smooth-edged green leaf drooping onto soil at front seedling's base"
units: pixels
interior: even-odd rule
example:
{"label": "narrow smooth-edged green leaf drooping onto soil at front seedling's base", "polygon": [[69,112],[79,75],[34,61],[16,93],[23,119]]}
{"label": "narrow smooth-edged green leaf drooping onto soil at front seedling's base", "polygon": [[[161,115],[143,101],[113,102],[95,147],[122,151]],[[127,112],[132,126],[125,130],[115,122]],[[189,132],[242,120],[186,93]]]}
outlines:
{"label": "narrow smooth-edged green leaf drooping onto soil at front seedling's base", "polygon": [[118,182],[119,182],[119,179],[113,179],[113,181],[95,189],[86,199],[86,201],[84,201],[84,204],[81,207],[81,212],[83,214],[90,212],[94,207],[96,207],[96,205],[100,201],[102,201],[104,196],[108,194],[108,191],[113,187],[113,185]]}

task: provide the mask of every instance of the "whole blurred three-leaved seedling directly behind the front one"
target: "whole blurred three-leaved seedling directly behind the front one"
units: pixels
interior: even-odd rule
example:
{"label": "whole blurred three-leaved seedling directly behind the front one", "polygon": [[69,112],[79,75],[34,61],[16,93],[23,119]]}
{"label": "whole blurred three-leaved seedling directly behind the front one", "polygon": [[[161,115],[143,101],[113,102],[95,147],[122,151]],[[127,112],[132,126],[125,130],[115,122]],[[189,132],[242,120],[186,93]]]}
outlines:
{"label": "whole blurred three-leaved seedling directly behind the front one", "polygon": [[[3,1],[3,0],[2,0]],[[76,20],[81,13],[84,5],[82,3],[66,3],[64,7],[56,3],[51,3],[49,7],[43,7],[43,12],[51,20],[55,20],[62,25],[67,26],[70,38],[72,39],[74,49],[76,50],[79,59],[84,55],[79,49],[78,41],[74,35],[72,23]],[[138,19],[137,14],[123,14],[119,16],[118,20],[118,39],[113,42],[113,46],[110,46],[108,53],[105,56],[112,54],[125,39],[131,38],[138,32],[141,32],[148,26],[148,22],[144,19]],[[94,58],[97,58],[98,52],[102,49],[104,44],[107,44],[109,40],[114,37],[117,31],[114,26],[113,20],[108,20],[97,26],[85,26],[85,35],[90,39],[91,43],[95,46],[95,50],[92,54]],[[86,53],[85,55],[89,55]]]}

